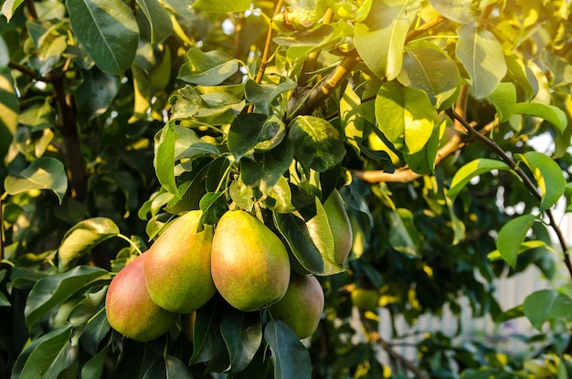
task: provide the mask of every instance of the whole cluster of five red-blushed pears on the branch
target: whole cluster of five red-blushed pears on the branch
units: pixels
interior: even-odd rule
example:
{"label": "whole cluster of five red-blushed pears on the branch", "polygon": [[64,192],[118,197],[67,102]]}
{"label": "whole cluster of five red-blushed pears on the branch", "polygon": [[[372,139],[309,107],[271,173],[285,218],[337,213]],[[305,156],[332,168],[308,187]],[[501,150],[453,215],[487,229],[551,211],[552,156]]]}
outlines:
{"label": "whole cluster of five red-blushed pears on the branch", "polygon": [[[339,263],[352,240],[341,201],[335,191],[324,203],[326,215],[335,218]],[[200,216],[195,210],[178,217],[111,280],[105,300],[111,327],[132,340],[151,341],[179,314],[192,319],[218,292],[239,311],[270,307],[271,317],[289,324],[300,339],[312,335],[323,313],[322,286],[314,276],[291,270],[281,238],[245,210],[229,210],[216,228],[196,232]]]}

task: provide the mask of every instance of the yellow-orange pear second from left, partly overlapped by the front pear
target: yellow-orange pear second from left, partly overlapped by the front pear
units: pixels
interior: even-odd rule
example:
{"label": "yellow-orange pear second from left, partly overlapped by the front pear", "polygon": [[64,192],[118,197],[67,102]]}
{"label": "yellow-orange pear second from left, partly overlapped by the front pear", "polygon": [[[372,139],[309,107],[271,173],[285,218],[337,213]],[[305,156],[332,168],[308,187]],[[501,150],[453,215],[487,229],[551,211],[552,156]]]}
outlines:
{"label": "yellow-orange pear second from left, partly overlapped by the front pear", "polygon": [[177,218],[147,252],[147,290],[167,311],[196,311],[217,291],[210,274],[213,229],[196,233],[200,216],[196,210]]}

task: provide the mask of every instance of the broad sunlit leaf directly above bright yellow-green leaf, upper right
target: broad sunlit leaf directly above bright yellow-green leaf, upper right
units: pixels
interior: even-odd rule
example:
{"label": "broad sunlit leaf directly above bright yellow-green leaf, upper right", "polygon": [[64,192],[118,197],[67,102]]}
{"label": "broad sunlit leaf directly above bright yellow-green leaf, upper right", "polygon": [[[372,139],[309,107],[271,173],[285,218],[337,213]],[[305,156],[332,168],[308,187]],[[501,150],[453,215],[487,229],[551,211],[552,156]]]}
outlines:
{"label": "broad sunlit leaf directly above bright yellow-green leaf, upper right", "polygon": [[439,109],[457,91],[459,69],[437,45],[418,42],[405,50],[397,80],[405,87],[425,91],[431,104]]}

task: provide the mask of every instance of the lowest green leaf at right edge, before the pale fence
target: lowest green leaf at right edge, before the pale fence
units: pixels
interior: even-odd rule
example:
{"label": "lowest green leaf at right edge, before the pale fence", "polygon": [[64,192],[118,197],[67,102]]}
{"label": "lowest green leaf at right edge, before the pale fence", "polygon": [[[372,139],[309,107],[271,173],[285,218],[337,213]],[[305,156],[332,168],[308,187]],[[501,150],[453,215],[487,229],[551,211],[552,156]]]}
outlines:
{"label": "lowest green leaf at right edge, before the pale fence", "polygon": [[536,330],[546,321],[572,317],[572,300],[556,290],[539,290],[524,299],[524,315]]}

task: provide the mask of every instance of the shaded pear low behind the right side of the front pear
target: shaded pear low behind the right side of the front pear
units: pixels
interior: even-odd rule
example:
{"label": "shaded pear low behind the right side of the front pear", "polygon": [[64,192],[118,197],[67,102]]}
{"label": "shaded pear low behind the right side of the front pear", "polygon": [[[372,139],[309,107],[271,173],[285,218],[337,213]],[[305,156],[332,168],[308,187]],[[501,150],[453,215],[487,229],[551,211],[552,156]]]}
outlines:
{"label": "shaded pear low behind the right side of the front pear", "polygon": [[318,328],[323,302],[322,286],[316,277],[292,273],[286,294],[270,307],[270,314],[286,322],[302,340]]}

